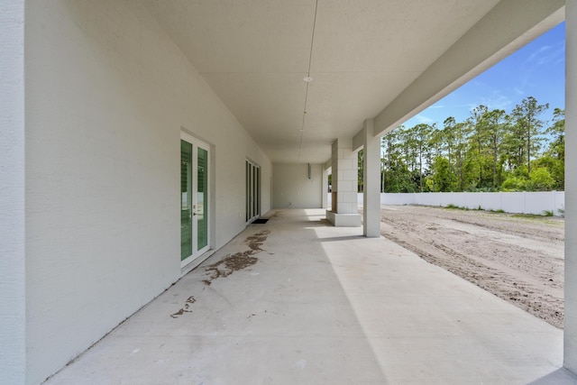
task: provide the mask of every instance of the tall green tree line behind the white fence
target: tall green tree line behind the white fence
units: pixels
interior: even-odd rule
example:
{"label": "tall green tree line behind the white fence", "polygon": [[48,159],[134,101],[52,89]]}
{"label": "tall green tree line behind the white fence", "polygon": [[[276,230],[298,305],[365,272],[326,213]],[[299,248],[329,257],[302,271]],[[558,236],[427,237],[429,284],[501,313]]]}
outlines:
{"label": "tall green tree line behind the white fence", "polygon": [[[509,113],[479,105],[464,122],[399,126],[381,138],[381,192],[564,190],[564,110],[533,96]],[[359,151],[362,191],[362,151]]]}

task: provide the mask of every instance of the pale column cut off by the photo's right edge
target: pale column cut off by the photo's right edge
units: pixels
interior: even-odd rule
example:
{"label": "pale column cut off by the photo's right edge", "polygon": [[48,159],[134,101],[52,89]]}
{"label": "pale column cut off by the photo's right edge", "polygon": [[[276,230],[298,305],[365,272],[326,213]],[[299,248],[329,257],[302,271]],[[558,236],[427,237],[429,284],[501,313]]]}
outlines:
{"label": "pale column cut off by the photo's right edge", "polygon": [[563,365],[577,373],[577,0],[565,4],[565,325]]}

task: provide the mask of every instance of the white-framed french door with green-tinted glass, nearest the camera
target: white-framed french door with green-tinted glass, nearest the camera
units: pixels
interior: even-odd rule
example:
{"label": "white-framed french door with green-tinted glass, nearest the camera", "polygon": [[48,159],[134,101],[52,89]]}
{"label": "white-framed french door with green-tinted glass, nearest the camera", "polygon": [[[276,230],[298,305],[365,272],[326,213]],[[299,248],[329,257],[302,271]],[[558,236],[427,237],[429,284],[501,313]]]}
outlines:
{"label": "white-framed french door with green-tinted glass, nearest the camera", "polygon": [[209,146],[180,136],[180,264],[184,266],[210,248]]}

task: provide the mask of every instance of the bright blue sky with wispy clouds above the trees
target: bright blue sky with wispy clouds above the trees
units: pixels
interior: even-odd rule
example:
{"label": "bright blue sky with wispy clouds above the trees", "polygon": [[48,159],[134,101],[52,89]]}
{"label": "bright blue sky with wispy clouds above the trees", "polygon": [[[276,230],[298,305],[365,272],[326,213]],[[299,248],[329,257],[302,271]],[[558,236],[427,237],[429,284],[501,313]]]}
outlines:
{"label": "bright blue sky with wispy clouds above the trees", "polygon": [[565,108],[565,23],[545,32],[404,125],[436,122],[441,128],[449,116],[463,122],[478,105],[510,113],[528,96],[536,97],[540,105],[549,104],[547,112],[540,116],[545,121],[553,118],[555,107]]}

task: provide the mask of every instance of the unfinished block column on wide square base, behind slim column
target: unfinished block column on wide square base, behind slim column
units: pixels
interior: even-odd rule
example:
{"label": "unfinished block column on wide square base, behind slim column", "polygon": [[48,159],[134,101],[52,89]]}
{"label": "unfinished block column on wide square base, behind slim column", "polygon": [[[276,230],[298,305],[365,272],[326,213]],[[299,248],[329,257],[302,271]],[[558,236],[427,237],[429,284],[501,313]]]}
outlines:
{"label": "unfinished block column on wide square base, behind slim column", "polygon": [[356,151],[353,151],[353,138],[334,141],[332,161],[333,202],[331,210],[326,212],[326,219],[335,226],[360,226],[361,215],[357,208],[359,162]]}

